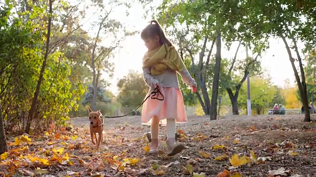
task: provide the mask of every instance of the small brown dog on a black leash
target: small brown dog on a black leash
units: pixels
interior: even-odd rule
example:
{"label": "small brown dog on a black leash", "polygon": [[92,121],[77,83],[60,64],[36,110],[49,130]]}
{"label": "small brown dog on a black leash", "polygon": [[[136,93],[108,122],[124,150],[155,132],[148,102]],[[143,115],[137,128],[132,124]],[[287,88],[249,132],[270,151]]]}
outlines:
{"label": "small brown dog on a black leash", "polygon": [[[103,141],[103,116],[99,111],[92,112],[90,107],[88,106],[88,111],[89,111],[89,120],[90,120],[90,134],[91,134],[91,141],[93,145],[95,145],[93,141],[93,136],[95,136],[95,141],[97,143],[97,150],[99,150],[99,146],[101,142]],[[97,138],[97,134],[99,135],[99,138]]]}

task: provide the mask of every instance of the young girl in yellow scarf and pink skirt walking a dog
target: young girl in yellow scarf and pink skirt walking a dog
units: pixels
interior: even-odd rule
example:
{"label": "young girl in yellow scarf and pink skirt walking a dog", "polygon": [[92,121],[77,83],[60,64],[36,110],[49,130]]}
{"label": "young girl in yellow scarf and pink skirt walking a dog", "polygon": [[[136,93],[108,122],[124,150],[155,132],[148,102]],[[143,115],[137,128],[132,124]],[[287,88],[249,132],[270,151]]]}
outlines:
{"label": "young girl in yellow scarf and pink skirt walking a dog", "polygon": [[175,123],[188,121],[176,72],[193,92],[196,92],[197,84],[156,20],[143,29],[141,38],[148,48],[143,58],[144,81],[150,87],[147,96],[156,87],[164,96],[163,101],[148,99],[143,105],[142,124],[151,124],[152,146],[149,153],[158,153],[160,122],[166,125],[167,155],[171,156],[183,148],[182,144],[175,144]]}

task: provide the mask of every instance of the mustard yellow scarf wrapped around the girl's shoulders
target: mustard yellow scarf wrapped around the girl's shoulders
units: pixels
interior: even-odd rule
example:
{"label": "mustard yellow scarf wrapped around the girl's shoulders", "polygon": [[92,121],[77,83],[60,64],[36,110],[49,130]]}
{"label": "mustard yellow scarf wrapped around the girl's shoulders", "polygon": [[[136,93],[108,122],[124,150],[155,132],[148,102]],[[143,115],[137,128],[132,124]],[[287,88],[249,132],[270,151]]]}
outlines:
{"label": "mustard yellow scarf wrapped around the girl's shoulders", "polygon": [[166,44],[145,54],[143,69],[148,67],[152,75],[162,74],[168,68],[173,71],[183,71],[186,68],[175,48]]}

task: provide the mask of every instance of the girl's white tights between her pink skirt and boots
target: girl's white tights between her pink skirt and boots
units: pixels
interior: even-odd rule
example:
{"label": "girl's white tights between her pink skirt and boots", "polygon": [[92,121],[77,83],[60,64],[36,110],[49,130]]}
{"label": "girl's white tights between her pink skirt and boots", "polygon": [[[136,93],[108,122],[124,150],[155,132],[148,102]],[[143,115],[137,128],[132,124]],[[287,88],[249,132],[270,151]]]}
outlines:
{"label": "girl's white tights between her pink skirt and boots", "polygon": [[[159,118],[154,116],[152,118],[151,124],[151,132],[152,132],[152,139],[158,139],[159,134]],[[167,125],[166,125],[166,132],[167,132],[167,139],[175,137],[175,128],[176,122],[174,118],[167,118]]]}

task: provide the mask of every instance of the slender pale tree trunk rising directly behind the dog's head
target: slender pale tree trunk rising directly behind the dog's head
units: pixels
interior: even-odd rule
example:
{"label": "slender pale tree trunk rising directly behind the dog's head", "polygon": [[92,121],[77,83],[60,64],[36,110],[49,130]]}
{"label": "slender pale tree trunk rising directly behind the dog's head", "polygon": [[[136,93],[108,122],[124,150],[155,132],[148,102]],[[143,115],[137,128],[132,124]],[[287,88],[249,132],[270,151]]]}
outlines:
{"label": "slender pale tree trunk rising directly behind the dog's head", "polygon": [[93,97],[92,97],[92,110],[96,110],[96,105],[97,105],[97,73],[95,70],[95,49],[97,48],[97,42],[99,39],[100,31],[103,26],[103,21],[100,23],[99,30],[96,36],[96,39],[94,41],[93,49],[92,49],[92,56],[91,56],[91,68],[92,68],[92,74],[93,74],[93,79],[92,79],[92,87],[93,87]]}

